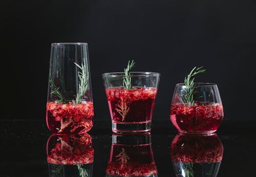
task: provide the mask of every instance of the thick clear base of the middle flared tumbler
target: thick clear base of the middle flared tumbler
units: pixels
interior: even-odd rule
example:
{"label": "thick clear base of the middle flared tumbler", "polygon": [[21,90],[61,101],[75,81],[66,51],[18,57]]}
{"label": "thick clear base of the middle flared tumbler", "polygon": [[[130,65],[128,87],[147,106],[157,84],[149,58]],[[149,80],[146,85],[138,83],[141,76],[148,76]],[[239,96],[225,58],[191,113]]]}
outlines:
{"label": "thick clear base of the middle flared tumbler", "polygon": [[143,123],[112,122],[112,131],[117,134],[141,134],[151,131],[151,121]]}

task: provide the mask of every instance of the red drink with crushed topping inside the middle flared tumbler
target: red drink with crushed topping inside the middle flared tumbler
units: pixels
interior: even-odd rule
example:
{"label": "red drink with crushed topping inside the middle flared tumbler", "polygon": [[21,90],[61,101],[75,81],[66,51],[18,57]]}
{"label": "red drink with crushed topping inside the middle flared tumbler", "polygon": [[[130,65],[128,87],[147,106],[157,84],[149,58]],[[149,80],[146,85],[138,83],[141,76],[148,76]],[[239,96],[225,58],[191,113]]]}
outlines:
{"label": "red drink with crushed topping inside the middle flared tumbler", "polygon": [[152,120],[157,89],[152,87],[123,87],[106,89],[110,114],[115,123],[145,123]]}

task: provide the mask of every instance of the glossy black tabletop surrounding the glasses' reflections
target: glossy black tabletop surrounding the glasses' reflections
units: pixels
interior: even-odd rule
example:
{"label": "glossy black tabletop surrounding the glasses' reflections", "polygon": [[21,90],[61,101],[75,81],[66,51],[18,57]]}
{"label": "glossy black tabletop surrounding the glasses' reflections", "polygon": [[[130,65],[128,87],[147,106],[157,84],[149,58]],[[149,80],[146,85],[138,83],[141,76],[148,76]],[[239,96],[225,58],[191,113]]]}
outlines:
{"label": "glossy black tabletop surrounding the glasses' reflections", "polygon": [[[46,143],[51,135],[45,121],[1,121],[0,176],[49,176]],[[254,176],[254,121],[224,121],[217,135],[224,146],[218,176]],[[94,143],[93,176],[105,176],[112,143],[111,122],[95,122],[89,134]],[[170,143],[177,134],[170,121],[154,121],[152,148],[158,176],[175,176]]]}

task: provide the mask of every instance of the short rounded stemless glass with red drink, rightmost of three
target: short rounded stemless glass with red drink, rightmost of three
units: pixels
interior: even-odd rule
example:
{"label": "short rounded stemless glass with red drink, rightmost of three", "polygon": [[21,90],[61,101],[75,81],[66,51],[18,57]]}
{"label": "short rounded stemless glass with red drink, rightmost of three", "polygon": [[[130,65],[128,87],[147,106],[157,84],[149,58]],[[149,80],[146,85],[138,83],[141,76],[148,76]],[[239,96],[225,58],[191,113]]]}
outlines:
{"label": "short rounded stemless glass with red drink, rightmost of three", "polygon": [[215,132],[224,117],[218,86],[214,83],[195,83],[194,105],[185,101],[186,86],[175,87],[170,120],[179,132],[204,134]]}

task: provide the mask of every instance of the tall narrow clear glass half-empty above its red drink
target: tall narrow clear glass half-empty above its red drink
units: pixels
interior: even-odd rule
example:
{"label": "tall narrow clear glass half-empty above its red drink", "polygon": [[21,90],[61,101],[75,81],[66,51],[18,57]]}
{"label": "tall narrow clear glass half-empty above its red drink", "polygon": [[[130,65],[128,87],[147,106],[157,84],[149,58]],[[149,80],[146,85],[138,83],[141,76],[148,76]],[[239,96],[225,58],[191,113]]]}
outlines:
{"label": "tall narrow clear glass half-empty above its red drink", "polygon": [[46,122],[52,132],[83,134],[92,128],[87,43],[52,43],[46,107]]}

